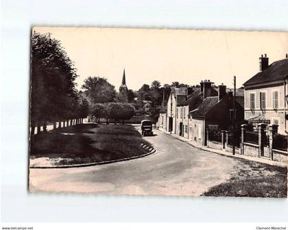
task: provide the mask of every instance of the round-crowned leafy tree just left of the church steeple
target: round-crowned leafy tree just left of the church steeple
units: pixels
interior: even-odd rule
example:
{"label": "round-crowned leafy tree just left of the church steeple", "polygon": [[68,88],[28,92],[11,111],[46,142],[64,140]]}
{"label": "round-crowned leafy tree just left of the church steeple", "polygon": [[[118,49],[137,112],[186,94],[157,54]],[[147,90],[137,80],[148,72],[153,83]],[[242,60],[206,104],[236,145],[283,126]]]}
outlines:
{"label": "round-crowned leafy tree just left of the church steeple", "polygon": [[88,77],[82,86],[92,103],[111,102],[116,97],[115,86],[104,77]]}

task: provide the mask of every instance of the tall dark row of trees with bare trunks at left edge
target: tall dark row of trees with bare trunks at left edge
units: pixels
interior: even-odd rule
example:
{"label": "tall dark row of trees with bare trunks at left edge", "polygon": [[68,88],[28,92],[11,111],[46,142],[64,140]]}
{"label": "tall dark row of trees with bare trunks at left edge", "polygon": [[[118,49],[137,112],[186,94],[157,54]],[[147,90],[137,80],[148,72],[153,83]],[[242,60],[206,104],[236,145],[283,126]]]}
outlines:
{"label": "tall dark row of trees with bare trunks at left edge", "polygon": [[[32,71],[30,122],[46,130],[47,123],[84,118],[88,114],[88,101],[77,92],[77,77],[73,62],[59,40],[50,34],[32,34]],[[61,123],[60,123],[61,124]]]}

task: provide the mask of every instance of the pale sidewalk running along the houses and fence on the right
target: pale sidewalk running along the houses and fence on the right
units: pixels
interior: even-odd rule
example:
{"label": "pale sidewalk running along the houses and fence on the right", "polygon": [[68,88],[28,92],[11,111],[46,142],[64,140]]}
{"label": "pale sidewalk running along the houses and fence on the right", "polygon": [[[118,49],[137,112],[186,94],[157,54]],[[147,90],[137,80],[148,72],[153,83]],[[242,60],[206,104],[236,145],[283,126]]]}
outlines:
{"label": "pale sidewalk running along the houses and fence on the right", "polygon": [[284,162],[275,162],[275,161],[272,161],[270,159],[265,159],[265,158],[261,158],[261,157],[250,157],[250,156],[246,156],[246,155],[240,155],[238,153],[235,153],[235,155],[232,155],[232,153],[226,152],[224,150],[211,149],[211,148],[208,148],[207,146],[202,146],[201,144],[199,144],[197,142],[189,141],[186,138],[178,136],[177,134],[170,134],[169,132],[164,131],[163,129],[158,129],[158,130],[162,131],[163,133],[166,133],[167,135],[173,136],[173,138],[181,140],[182,142],[186,142],[187,144],[190,144],[191,146],[193,146],[193,147],[195,147],[197,149],[202,149],[204,151],[217,153],[217,154],[223,155],[225,157],[241,158],[241,159],[247,159],[247,160],[250,160],[250,161],[253,161],[253,162],[259,162],[259,163],[269,164],[269,165],[273,165],[273,166],[287,167],[287,164],[285,164]]}

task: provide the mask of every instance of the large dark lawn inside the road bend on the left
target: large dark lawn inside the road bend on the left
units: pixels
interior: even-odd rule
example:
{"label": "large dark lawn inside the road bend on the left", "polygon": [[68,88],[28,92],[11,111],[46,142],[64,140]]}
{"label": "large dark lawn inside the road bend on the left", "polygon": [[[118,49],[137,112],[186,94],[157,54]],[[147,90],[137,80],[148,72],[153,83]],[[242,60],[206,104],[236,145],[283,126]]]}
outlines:
{"label": "large dark lawn inside the road bend on the left", "polygon": [[141,143],[151,146],[132,125],[75,125],[34,136],[30,159],[52,165],[103,162],[147,153]]}

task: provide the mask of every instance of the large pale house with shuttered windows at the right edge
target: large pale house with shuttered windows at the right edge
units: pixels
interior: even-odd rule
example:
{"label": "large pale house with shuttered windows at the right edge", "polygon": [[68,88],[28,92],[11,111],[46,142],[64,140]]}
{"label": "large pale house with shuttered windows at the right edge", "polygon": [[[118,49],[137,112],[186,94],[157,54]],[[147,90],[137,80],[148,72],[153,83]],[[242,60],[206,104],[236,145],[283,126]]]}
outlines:
{"label": "large pale house with shuttered windows at the right edge", "polygon": [[269,65],[265,54],[259,57],[259,73],[246,81],[245,120],[278,125],[278,133],[288,133],[288,57]]}

